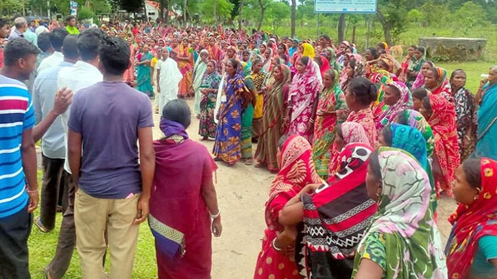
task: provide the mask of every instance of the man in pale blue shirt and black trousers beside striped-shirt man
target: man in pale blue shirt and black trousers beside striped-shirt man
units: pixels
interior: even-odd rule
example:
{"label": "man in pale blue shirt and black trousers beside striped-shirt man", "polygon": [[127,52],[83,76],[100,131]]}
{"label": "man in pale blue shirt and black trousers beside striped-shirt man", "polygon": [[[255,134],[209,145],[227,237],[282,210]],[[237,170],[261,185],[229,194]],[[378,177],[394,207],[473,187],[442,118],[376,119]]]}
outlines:
{"label": "man in pale blue shirt and black trousers beside striped-shirt man", "polygon": [[[55,227],[56,207],[58,193],[64,191],[62,171],[64,171],[64,158],[66,148],[64,143],[64,129],[60,120],[60,111],[53,111],[53,103],[56,99],[57,80],[60,69],[73,66],[80,58],[77,51],[77,35],[69,35],[64,38],[62,45],[64,61],[42,71],[34,81],[34,111],[36,124],[49,118],[53,118],[53,124],[43,135],[41,144],[43,160],[43,185],[41,190],[40,217],[36,218],[34,224],[42,232],[49,232]],[[63,112],[62,112],[63,113]],[[36,136],[34,136],[36,139]],[[65,201],[64,203],[65,204]]]}

